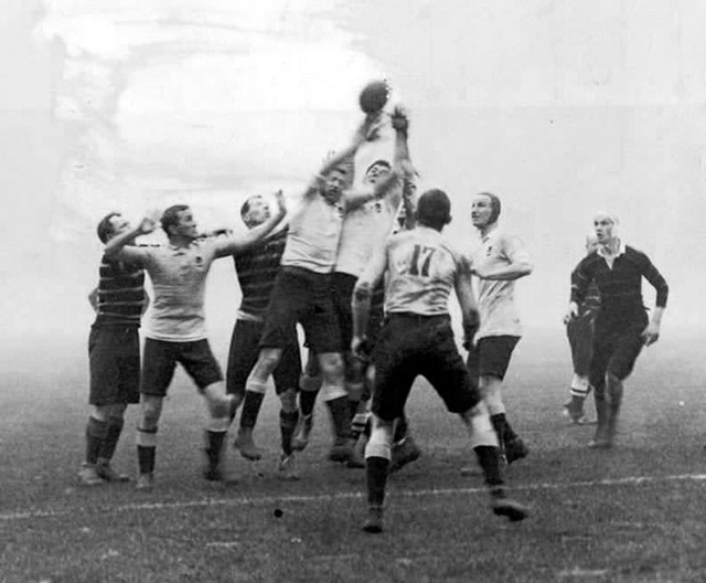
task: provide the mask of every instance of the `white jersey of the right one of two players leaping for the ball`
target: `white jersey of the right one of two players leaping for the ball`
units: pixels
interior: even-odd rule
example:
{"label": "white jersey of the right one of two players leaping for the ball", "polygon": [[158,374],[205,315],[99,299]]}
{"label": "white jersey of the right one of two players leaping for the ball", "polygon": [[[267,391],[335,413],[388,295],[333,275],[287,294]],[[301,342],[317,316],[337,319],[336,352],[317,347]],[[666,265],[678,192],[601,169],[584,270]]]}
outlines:
{"label": "white jersey of the right one of two players leaping for the ball", "polygon": [[341,229],[336,272],[361,276],[375,250],[393,232],[400,199],[402,193],[389,193],[346,213]]}

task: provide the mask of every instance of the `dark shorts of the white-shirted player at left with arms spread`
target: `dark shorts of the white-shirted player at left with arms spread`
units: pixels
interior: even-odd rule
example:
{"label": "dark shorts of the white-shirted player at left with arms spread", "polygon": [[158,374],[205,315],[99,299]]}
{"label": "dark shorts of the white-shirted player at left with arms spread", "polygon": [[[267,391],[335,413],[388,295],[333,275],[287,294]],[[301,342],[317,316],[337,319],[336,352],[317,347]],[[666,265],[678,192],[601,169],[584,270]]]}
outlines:
{"label": "dark shorts of the white-shirted player at left with arms spread", "polygon": [[193,379],[199,390],[223,380],[223,372],[211,352],[207,340],[167,342],[148,338],[145,341],[140,392],[164,396],[178,362]]}

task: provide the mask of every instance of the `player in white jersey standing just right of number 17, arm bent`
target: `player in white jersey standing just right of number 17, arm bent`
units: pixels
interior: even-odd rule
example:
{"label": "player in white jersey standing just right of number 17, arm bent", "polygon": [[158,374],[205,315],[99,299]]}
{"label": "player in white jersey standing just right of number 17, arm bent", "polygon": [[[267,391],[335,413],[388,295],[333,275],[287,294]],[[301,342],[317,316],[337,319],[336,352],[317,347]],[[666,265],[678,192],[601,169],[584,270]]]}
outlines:
{"label": "player in white jersey standing just right of number 17, arm bent", "polygon": [[515,282],[530,275],[533,266],[522,241],[499,229],[500,211],[495,194],[482,192],[473,199],[471,221],[479,232],[480,244],[471,254],[471,268],[479,282],[480,328],[475,343],[467,342],[467,363],[479,380],[505,460],[512,464],[525,457],[528,448],[507,421],[501,388],[522,336]]}

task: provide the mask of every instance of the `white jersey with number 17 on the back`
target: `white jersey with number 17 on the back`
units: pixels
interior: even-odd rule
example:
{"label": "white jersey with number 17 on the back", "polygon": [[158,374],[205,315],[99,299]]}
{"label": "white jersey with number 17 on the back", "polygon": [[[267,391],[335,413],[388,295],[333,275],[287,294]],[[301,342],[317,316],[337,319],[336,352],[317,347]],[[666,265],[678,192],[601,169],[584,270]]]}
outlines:
{"label": "white jersey with number 17 on the back", "polygon": [[449,312],[449,296],[466,263],[440,232],[427,226],[402,231],[387,240],[386,254],[387,314]]}

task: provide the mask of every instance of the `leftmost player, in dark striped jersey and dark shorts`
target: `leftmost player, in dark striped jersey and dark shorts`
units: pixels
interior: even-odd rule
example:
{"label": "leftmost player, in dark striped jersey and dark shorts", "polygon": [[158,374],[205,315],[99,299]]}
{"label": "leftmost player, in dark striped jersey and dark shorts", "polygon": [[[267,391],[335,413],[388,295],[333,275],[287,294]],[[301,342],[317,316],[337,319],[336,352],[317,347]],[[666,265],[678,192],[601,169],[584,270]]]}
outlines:
{"label": "leftmost player, in dark striped jersey and dark shorts", "polygon": [[[98,239],[129,231],[130,223],[117,212],[98,223]],[[125,411],[140,400],[140,319],[149,296],[145,272],[129,263],[103,257],[98,286],[88,295],[96,320],[88,338],[92,411],[86,424],[86,458],[78,473],[84,486],[128,481],[110,460],[125,425]]]}

